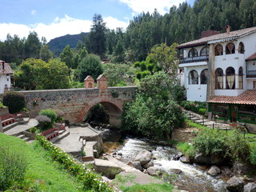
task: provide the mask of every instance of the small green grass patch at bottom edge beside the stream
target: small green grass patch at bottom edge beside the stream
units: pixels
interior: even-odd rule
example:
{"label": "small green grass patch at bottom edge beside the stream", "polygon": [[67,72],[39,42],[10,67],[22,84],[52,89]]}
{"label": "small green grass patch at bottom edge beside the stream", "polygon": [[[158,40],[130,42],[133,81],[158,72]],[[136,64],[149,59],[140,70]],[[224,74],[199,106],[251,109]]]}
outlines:
{"label": "small green grass patch at bottom edge beside the stream", "polygon": [[146,185],[139,185],[135,184],[134,186],[126,186],[126,187],[121,187],[121,190],[123,192],[156,192],[156,191],[161,191],[161,192],[171,192],[173,191],[174,187],[164,183],[164,184],[146,184]]}

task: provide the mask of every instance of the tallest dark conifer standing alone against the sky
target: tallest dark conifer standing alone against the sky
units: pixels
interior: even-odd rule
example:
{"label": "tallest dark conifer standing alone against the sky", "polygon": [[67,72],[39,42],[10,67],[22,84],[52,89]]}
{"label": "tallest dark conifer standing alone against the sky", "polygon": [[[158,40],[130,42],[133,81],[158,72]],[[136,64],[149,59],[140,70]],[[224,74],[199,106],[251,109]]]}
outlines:
{"label": "tallest dark conifer standing alone against the sky", "polygon": [[86,36],[86,47],[91,54],[103,57],[106,53],[106,23],[101,14],[94,14],[90,34]]}

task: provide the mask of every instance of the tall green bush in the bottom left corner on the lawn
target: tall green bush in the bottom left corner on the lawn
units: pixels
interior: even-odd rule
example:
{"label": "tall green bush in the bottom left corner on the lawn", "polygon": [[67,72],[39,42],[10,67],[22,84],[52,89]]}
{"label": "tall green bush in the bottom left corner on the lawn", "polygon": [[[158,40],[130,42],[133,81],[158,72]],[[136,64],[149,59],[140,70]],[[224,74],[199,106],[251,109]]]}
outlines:
{"label": "tall green bush in the bottom left corner on the lawn", "polygon": [[0,191],[7,190],[14,182],[22,182],[26,166],[26,161],[20,154],[0,146]]}

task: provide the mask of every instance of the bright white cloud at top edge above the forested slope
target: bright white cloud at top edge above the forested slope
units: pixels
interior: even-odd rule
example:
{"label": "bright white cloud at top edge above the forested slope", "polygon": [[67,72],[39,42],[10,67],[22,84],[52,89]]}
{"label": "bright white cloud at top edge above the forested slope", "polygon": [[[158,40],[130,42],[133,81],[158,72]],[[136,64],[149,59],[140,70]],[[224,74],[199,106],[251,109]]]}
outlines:
{"label": "bright white cloud at top edge above the forested slope", "polygon": [[178,6],[179,3],[184,2],[184,0],[119,0],[130,7],[136,14],[144,12],[153,13],[154,9],[157,9],[160,14],[166,14],[169,12],[170,7]]}

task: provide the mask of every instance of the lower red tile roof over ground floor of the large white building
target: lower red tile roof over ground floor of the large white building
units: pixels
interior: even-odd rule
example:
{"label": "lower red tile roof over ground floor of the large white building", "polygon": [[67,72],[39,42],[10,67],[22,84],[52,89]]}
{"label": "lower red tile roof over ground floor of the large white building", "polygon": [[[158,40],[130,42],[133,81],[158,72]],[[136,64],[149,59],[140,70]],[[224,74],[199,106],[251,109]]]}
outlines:
{"label": "lower red tile roof over ground floor of the large white building", "polygon": [[246,90],[238,96],[215,96],[207,102],[256,105],[256,90]]}

